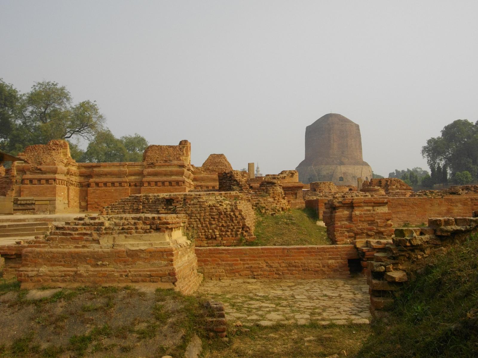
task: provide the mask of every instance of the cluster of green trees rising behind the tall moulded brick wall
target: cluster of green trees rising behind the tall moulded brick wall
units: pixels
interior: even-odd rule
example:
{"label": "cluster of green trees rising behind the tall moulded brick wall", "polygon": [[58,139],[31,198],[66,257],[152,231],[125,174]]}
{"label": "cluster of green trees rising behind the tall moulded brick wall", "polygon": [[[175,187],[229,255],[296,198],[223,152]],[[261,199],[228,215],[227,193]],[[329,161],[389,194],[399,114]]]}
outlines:
{"label": "cluster of green trees rising behind the tall moulded brick wall", "polygon": [[[37,82],[21,94],[0,79],[0,149],[15,155],[52,139],[67,140],[78,162],[141,161],[148,146],[137,133],[116,138],[96,102],[73,103],[65,86]],[[88,143],[86,150],[79,147],[80,140]]]}

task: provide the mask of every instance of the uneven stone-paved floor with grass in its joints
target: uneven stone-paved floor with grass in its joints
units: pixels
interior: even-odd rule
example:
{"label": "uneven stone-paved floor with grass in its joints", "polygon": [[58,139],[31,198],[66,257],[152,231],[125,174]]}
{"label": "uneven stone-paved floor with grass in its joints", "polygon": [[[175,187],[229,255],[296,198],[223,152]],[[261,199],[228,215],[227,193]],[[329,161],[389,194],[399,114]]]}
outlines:
{"label": "uneven stone-paved floor with grass in its joints", "polygon": [[275,323],[369,323],[365,278],[326,280],[205,281],[197,295],[224,303],[228,322],[244,326]]}

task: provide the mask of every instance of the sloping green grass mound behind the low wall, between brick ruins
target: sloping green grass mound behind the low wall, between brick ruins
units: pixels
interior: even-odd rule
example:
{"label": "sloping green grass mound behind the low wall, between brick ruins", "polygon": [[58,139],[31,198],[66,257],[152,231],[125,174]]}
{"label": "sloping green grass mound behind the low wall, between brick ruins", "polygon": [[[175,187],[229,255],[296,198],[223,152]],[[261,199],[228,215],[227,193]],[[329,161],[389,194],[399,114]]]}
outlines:
{"label": "sloping green grass mound behind the low wall, between brick ruins", "polygon": [[313,209],[292,209],[278,215],[256,213],[257,239],[248,246],[329,245],[327,230],[316,224]]}

